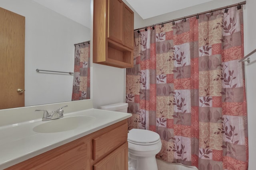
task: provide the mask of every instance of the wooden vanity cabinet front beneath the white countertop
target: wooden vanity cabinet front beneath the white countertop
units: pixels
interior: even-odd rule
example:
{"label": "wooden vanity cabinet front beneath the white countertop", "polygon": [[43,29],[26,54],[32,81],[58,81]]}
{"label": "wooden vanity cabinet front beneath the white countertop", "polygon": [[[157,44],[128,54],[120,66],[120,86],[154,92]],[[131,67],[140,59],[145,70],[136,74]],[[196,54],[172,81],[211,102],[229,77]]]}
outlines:
{"label": "wooden vanity cabinet front beneath the white countertop", "polygon": [[128,170],[127,119],[6,170]]}

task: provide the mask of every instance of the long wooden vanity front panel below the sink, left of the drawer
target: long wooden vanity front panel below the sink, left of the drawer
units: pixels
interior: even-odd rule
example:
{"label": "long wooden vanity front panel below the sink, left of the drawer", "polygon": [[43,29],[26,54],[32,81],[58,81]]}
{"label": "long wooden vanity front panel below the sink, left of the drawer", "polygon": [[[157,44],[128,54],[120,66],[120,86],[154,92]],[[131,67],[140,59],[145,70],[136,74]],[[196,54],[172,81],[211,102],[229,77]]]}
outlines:
{"label": "long wooden vanity front panel below the sink, left of the drawer", "polygon": [[5,170],[92,170],[90,154],[90,143],[83,137]]}

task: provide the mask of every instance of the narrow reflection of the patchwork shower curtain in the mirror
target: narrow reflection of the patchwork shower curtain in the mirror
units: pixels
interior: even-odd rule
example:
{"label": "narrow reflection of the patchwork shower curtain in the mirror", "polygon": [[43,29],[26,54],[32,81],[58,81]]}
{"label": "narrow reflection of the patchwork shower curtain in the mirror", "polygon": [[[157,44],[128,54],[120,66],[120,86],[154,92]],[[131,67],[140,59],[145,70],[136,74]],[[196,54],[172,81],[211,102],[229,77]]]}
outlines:
{"label": "narrow reflection of the patchwork shower curtain in the mirror", "polygon": [[75,45],[72,101],[90,99],[90,43]]}

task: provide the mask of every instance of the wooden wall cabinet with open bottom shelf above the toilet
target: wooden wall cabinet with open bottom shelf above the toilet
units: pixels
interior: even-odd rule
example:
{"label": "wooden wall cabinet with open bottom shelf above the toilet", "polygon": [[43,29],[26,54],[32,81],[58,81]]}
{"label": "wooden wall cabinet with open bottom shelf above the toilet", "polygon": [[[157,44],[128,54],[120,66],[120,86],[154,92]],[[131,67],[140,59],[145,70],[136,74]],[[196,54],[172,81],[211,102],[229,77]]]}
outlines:
{"label": "wooden wall cabinet with open bottom shelf above the toilet", "polygon": [[134,12],[122,0],[94,0],[93,63],[133,67]]}

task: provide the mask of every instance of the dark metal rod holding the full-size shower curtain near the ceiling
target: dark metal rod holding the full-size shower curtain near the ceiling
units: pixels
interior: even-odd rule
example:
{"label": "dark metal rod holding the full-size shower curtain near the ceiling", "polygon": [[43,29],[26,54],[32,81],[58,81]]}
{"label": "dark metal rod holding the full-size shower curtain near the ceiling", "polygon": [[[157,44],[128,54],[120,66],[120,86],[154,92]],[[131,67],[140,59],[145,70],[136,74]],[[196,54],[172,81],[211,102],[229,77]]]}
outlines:
{"label": "dark metal rod holding the full-size shower curtain near the ceiling", "polygon": [[[206,11],[206,12],[201,12],[201,13],[190,15],[190,16],[185,16],[185,17],[177,18],[175,20],[170,20],[170,21],[165,21],[165,22],[157,23],[157,24],[154,24],[154,25],[149,25],[147,27],[152,27],[152,26],[155,26],[155,25],[161,25],[161,24],[164,24],[164,23],[170,23],[170,22],[174,22],[174,21],[178,21],[178,20],[184,20],[186,18],[191,18],[191,17],[194,17],[194,16],[199,16],[201,14],[207,14],[207,13],[218,11],[218,10],[224,10],[224,9],[227,9],[227,8],[231,8],[233,6],[241,6],[241,5],[244,5],[244,4],[246,4],[246,1],[239,2],[237,4],[233,4],[233,5],[229,5],[229,6],[225,6],[225,7],[221,7],[221,8],[216,8],[214,10],[209,10],[209,11]],[[134,31],[138,31],[140,29],[146,29],[147,27],[141,27],[141,28],[138,28],[138,29],[134,29]]]}

